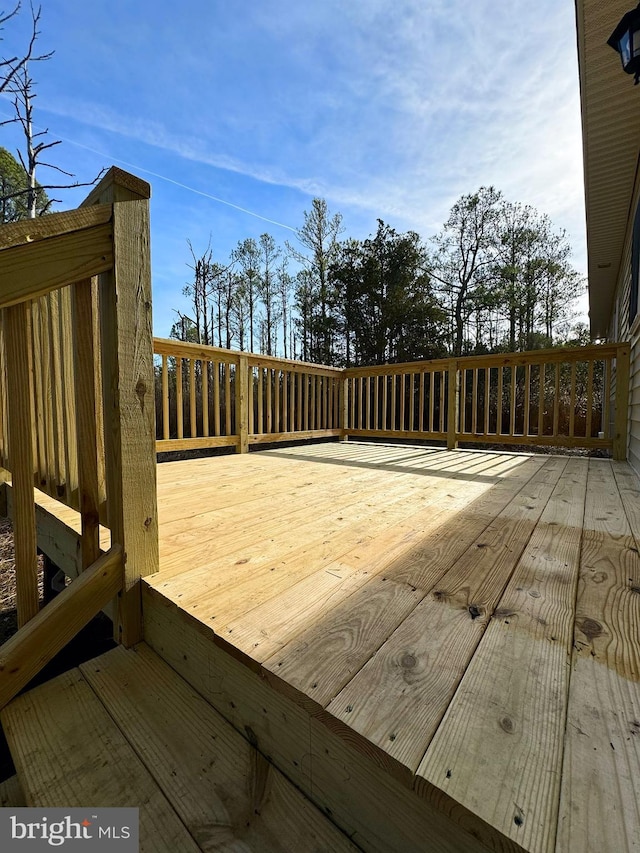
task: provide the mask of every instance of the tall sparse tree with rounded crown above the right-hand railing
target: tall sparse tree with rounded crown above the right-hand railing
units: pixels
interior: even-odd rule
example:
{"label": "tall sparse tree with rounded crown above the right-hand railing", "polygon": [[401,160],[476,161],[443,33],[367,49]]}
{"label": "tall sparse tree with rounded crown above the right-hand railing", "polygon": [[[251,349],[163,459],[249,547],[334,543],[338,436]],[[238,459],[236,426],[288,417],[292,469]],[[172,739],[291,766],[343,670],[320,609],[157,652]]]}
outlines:
{"label": "tall sparse tree with rounded crown above the right-hand railing", "polygon": [[584,283],[566,234],[547,216],[481,187],[456,202],[433,242],[454,355],[538,349],[566,337]]}

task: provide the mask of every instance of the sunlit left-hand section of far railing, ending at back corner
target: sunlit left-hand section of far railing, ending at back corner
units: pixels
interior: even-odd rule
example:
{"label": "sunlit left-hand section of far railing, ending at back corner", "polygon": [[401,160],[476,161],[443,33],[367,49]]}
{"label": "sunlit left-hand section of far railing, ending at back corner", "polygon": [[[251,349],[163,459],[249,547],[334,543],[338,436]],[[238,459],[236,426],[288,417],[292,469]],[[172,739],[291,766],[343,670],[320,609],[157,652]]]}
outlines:
{"label": "sunlit left-hand section of far railing, ending at back corner", "polygon": [[154,339],[159,452],[340,436],[342,370]]}

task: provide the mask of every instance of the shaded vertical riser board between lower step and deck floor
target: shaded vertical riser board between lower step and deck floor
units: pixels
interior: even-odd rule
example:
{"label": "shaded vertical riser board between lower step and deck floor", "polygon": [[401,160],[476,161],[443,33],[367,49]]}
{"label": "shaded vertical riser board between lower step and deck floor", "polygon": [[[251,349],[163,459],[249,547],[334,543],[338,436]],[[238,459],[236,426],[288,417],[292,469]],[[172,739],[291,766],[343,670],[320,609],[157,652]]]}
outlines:
{"label": "shaded vertical riser board between lower step and deck floor", "polygon": [[363,850],[487,850],[325,726],[316,725],[212,643],[210,631],[150,589],[145,589],[145,617],[145,638],[154,650]]}

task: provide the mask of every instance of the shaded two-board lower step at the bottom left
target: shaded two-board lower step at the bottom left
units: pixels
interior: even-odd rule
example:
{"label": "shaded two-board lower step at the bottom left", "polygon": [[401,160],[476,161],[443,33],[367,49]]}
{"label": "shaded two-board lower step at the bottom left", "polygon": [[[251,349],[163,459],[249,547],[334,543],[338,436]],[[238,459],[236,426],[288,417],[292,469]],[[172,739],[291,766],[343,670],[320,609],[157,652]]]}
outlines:
{"label": "shaded two-board lower step at the bottom left", "polygon": [[19,696],[2,724],[3,805],[137,806],[141,851],[360,849],[144,643]]}

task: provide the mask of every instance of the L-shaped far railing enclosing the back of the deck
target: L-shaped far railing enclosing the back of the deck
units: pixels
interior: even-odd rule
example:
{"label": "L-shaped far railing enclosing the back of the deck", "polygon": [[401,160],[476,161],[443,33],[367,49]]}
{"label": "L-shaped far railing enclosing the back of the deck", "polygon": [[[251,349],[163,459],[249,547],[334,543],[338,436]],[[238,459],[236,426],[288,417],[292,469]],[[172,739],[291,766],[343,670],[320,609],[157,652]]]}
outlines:
{"label": "L-shaped far railing enclosing the back of the deck", "polygon": [[155,352],[158,450],[351,435],[625,457],[626,344],[346,370],[170,340]]}

